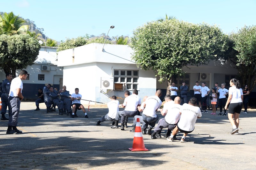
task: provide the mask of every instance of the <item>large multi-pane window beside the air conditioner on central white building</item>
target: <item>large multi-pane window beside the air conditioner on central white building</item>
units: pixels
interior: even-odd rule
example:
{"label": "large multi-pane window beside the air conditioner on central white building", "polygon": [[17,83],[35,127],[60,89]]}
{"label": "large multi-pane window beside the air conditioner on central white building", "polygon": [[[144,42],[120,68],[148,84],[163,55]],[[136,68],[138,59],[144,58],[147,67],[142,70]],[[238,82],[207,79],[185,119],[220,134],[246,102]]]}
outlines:
{"label": "large multi-pane window beside the air conditioner on central white building", "polygon": [[124,84],[124,90],[139,88],[139,70],[114,70],[114,83]]}

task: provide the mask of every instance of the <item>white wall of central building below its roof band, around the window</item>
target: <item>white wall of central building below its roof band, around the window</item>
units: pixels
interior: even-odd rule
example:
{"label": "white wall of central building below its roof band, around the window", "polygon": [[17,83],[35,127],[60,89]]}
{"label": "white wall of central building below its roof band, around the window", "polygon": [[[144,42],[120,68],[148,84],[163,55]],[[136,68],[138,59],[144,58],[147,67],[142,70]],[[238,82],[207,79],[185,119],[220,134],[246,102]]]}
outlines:
{"label": "white wall of central building below its roof band, around the window", "polygon": [[[113,64],[113,63],[85,63],[74,66],[64,66],[63,85],[67,86],[70,93],[79,88],[82,99],[109,102],[108,96],[116,95],[120,103],[124,101],[124,91],[104,89],[101,91],[101,77],[113,77],[114,69],[139,70],[135,64]],[[145,95],[155,95],[156,78],[152,71],[139,70],[139,96],[142,99]],[[132,90],[130,91],[132,93]],[[106,95],[104,94],[106,93]],[[87,104],[89,101],[81,101]],[[97,104],[90,102],[90,104]]]}

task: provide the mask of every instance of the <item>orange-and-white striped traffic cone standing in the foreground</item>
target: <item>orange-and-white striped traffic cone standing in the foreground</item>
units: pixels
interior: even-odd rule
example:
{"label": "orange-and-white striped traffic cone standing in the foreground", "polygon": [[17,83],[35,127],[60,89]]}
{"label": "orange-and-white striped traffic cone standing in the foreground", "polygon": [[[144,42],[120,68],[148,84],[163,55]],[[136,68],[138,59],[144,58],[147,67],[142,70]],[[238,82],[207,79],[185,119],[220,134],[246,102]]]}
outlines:
{"label": "orange-and-white striped traffic cone standing in the foreground", "polygon": [[129,148],[129,150],[130,151],[148,151],[148,149],[145,148],[143,137],[142,137],[142,132],[140,128],[140,118],[137,118],[133,144],[132,144],[132,148]]}

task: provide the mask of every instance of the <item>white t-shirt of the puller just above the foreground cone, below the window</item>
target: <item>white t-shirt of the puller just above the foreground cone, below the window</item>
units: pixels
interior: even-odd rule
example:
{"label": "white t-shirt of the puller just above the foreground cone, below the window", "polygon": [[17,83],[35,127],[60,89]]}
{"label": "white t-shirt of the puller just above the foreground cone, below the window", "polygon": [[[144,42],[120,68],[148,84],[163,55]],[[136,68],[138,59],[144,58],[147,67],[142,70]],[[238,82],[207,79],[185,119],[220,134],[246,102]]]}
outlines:
{"label": "white t-shirt of the puller just above the foreground cone, below the window", "polygon": [[132,94],[124,99],[124,110],[135,112],[137,111],[137,106],[140,104],[140,97],[136,94]]}

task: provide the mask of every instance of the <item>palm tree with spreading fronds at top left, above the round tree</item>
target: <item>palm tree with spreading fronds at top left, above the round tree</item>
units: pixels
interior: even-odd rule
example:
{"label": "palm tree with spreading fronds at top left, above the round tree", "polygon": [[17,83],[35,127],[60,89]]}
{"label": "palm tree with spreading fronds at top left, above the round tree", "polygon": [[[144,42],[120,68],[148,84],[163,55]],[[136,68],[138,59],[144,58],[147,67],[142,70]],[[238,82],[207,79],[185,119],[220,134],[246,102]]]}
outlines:
{"label": "palm tree with spreading fronds at top left, above the round tree", "polygon": [[28,30],[28,25],[22,25],[26,21],[19,16],[15,16],[13,12],[0,15],[0,35],[20,34]]}

